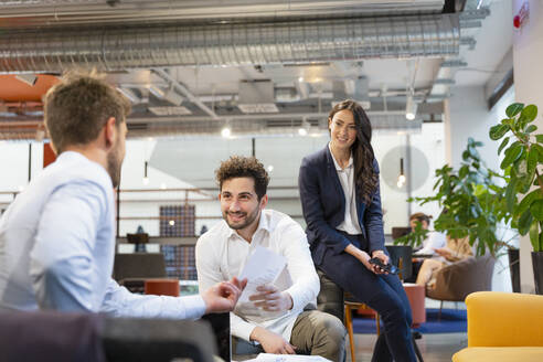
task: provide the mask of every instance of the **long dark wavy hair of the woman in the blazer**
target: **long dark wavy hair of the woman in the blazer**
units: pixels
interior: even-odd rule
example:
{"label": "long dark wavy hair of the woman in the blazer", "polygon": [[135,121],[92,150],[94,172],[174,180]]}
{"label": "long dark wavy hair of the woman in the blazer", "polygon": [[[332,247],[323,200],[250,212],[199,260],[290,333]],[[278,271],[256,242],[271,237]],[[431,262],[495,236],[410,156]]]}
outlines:
{"label": "long dark wavy hair of the woman in the blazer", "polygon": [[348,109],[354,116],[356,126],[356,140],[351,146],[351,153],[354,163],[354,183],[356,184],[356,196],[365,204],[372,201],[379,183],[377,172],[373,169],[375,155],[372,147],[372,125],[362,106],[352,99],[338,103],[330,110],[329,119],[333,118],[340,110]]}

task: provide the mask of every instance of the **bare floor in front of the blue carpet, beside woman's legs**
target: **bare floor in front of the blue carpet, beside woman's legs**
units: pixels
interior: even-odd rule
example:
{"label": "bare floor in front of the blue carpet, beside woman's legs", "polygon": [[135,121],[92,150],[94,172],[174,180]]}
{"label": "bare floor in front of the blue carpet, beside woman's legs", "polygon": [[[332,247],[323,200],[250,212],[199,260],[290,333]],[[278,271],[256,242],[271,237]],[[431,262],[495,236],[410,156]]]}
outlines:
{"label": "bare floor in front of the blue carpet, beside woman's legs", "polygon": [[[375,340],[375,334],[354,334],[356,362],[371,361]],[[453,354],[467,344],[466,333],[423,334],[423,338],[417,340],[425,362],[450,362]],[[349,342],[347,342],[347,361],[351,361]]]}

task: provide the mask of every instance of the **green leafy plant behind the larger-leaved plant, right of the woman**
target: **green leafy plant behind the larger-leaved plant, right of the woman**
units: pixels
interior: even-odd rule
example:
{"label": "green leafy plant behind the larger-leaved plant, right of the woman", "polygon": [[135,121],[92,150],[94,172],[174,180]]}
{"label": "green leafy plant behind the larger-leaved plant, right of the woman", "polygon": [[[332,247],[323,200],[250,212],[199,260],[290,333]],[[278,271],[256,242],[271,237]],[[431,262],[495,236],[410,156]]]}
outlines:
{"label": "green leafy plant behind the larger-leaved plant, right of the woman", "polygon": [[[407,201],[420,205],[438,202],[444,212],[434,221],[436,231],[451,238],[468,236],[478,255],[488,252],[496,256],[503,247],[510,247],[509,242],[513,238],[503,239],[503,225],[511,220],[511,213],[505,205],[505,178],[486,167],[477,150],[481,146],[481,142],[469,138],[458,170],[448,164],[436,170],[434,190],[437,193]],[[417,246],[425,237],[426,231],[417,227],[395,243]]]}

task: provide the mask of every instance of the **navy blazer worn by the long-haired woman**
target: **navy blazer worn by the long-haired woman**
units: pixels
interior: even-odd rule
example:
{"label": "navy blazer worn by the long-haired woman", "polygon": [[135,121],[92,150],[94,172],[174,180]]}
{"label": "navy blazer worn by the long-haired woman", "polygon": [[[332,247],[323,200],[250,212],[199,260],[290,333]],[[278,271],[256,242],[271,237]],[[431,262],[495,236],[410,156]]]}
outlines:
{"label": "navy blazer worn by the long-haired woman", "polygon": [[[373,167],[379,175],[376,160],[373,161]],[[298,187],[311,255],[315,264],[320,266],[327,248],[339,254],[351,244],[336,230],[345,216],[345,196],[328,145],[322,150],[304,158]],[[356,201],[356,213],[360,228],[368,241],[366,252],[371,254],[373,251],[381,249],[386,253],[379,183],[370,205]]]}

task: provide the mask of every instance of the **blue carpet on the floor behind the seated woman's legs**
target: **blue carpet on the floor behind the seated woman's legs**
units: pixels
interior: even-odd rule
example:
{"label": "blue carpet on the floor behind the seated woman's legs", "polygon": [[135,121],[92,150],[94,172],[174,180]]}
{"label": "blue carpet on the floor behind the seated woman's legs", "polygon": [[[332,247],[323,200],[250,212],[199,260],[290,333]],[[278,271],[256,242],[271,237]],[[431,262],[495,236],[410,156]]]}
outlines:
{"label": "blue carpet on the floor behind the seated woman's legs", "polygon": [[[439,309],[426,309],[426,322],[422,323],[416,330],[420,333],[458,333],[466,332],[468,322],[466,310],[464,309],[443,309],[441,320],[437,320]],[[354,317],[354,333],[376,333],[375,320],[372,318]],[[383,322],[381,322],[383,327]]]}

